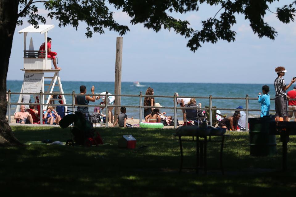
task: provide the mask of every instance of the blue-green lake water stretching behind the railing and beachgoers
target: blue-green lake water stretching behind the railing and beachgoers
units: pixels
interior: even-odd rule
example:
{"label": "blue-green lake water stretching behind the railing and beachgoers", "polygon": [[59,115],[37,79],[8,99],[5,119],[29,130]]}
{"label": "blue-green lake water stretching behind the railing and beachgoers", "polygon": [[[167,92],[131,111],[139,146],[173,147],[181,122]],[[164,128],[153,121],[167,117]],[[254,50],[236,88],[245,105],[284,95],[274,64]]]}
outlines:
{"label": "blue-green lake water stretching behind the railing and beachgoers", "polygon": [[[11,92],[20,92],[22,87],[22,81],[7,81],[7,90]],[[49,83],[49,82],[47,82]],[[133,86],[133,82],[122,82],[121,83],[121,94],[132,94],[139,95],[142,91],[143,95],[148,87],[154,89],[155,103],[160,103],[163,107],[173,107],[172,98],[157,98],[157,95],[173,96],[175,92],[178,92],[180,96],[185,95],[189,98],[195,97],[241,97],[245,98],[246,94],[249,98],[257,98],[259,92],[262,92],[262,86],[268,85],[270,88],[270,98],[274,98],[275,91],[273,84],[224,84],[224,83],[157,83],[157,82],[143,82],[144,87]],[[74,90],[79,93],[80,85],[87,87],[87,94],[91,94],[92,85],[95,86],[95,93],[101,93],[108,90],[109,93],[114,94],[114,82],[62,82],[64,93],[72,93]],[[58,91],[58,87],[55,87],[54,91]],[[11,102],[17,103],[19,96],[12,95]],[[31,101],[34,103],[34,97],[31,96]],[[144,98],[143,98],[144,99]],[[95,103],[99,104],[101,100]],[[196,99],[197,103],[202,103],[202,107],[209,106],[209,99]],[[72,96],[66,96],[67,104],[72,104]],[[90,104],[95,104],[90,102]],[[121,97],[121,105],[139,105],[139,97]],[[234,100],[234,99],[213,99],[212,105],[217,108],[236,108],[243,106],[245,108],[245,100]],[[179,106],[179,105],[178,105]],[[11,114],[15,112],[16,106],[11,106]],[[260,109],[260,104],[257,100],[249,100],[249,109]],[[270,110],[274,110],[274,101],[270,101]],[[93,107],[89,107],[90,113],[93,111]],[[163,109],[167,115],[173,115],[172,109]],[[178,118],[182,119],[181,110],[177,110]],[[230,116],[234,111],[221,111],[222,114],[228,114]],[[126,114],[129,117],[139,119],[138,108],[127,108]],[[260,112],[250,111],[250,116],[259,116]]]}

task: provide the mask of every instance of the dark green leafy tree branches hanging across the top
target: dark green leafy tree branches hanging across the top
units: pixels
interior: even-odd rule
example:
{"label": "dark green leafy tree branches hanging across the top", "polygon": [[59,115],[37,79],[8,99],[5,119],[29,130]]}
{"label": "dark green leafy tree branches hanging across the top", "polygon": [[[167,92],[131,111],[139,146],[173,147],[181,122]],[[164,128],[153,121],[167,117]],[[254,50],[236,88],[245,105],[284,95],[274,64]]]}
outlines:
{"label": "dark green leafy tree branches hanging across the top", "polygon": [[[236,32],[232,26],[236,24],[238,14],[245,15],[245,20],[249,20],[250,26],[259,38],[267,37],[275,39],[276,30],[264,21],[269,5],[279,0],[109,0],[117,10],[126,12],[130,17],[132,25],[142,23],[148,29],[158,32],[162,28],[174,30],[177,34],[189,38],[187,47],[196,51],[201,47],[201,43],[216,43],[218,40],[228,42],[235,41]],[[20,0],[20,18],[29,17],[28,22],[38,26],[38,21],[45,23],[43,16],[38,14],[38,8],[32,4],[43,2],[45,9],[49,10],[49,18],[59,21],[59,26],[71,25],[76,30],[79,22],[87,24],[87,37],[92,37],[93,32],[104,34],[104,29],[119,32],[123,35],[129,28],[118,24],[113,19],[113,12],[109,11],[104,0]],[[190,23],[170,16],[171,13],[187,13],[198,11],[199,4],[206,3],[210,6],[219,6],[220,10],[215,16],[202,21],[202,29],[194,30],[189,27]],[[279,21],[289,23],[294,21],[296,1],[290,5],[277,8],[276,16]],[[222,11],[221,11],[222,10]],[[221,14],[216,18],[216,15]],[[272,11],[270,11],[272,12]],[[22,24],[22,19],[18,25]]]}

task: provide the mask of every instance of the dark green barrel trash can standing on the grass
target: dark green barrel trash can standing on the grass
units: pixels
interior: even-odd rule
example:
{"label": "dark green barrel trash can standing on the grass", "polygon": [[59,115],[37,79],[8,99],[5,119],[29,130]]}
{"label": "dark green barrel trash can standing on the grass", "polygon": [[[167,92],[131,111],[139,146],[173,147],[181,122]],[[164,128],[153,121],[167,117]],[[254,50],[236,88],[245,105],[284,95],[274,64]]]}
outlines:
{"label": "dark green barrel trash can standing on the grass", "polygon": [[250,155],[276,155],[276,135],[269,135],[270,123],[275,122],[274,116],[264,116],[263,118],[249,118],[248,120],[250,126]]}

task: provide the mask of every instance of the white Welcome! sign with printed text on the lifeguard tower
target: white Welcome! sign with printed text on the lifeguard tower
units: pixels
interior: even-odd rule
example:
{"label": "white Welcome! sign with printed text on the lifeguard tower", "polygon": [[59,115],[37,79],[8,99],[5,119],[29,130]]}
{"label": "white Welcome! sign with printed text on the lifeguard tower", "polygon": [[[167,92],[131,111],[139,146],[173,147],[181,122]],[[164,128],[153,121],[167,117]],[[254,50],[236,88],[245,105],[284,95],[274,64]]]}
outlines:
{"label": "white Welcome! sign with printed text on the lifeguard tower", "polygon": [[42,89],[43,73],[25,73],[24,93],[40,93]]}

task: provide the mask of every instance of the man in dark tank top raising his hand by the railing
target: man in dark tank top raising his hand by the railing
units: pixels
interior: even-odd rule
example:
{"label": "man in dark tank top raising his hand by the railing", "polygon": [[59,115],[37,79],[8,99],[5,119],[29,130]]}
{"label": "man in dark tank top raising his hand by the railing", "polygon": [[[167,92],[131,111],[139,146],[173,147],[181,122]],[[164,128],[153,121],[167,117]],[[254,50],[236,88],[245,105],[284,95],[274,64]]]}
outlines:
{"label": "man in dark tank top raising his hand by the railing", "polygon": [[[94,94],[95,86],[92,86],[92,94]],[[86,94],[86,87],[80,86],[80,95],[75,96],[75,104],[76,105],[88,105],[89,101],[95,102],[96,98],[95,96],[85,96]],[[90,115],[88,112],[88,107],[77,107],[77,111],[81,112],[84,115],[84,118],[86,120],[90,120]]]}

